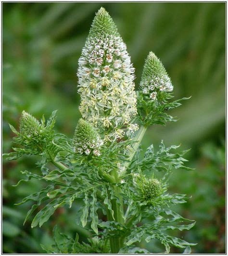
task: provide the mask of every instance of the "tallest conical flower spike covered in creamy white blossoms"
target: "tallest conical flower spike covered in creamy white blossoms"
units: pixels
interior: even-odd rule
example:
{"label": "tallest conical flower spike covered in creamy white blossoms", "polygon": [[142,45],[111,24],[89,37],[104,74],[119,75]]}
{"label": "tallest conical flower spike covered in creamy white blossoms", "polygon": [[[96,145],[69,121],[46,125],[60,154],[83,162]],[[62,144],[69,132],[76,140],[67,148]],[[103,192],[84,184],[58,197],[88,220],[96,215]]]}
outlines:
{"label": "tallest conical flower spike covered in creamy white blossoms", "polygon": [[134,68],[110,15],[96,14],[78,61],[79,110],[85,120],[109,138],[121,138],[121,129],[137,114]]}

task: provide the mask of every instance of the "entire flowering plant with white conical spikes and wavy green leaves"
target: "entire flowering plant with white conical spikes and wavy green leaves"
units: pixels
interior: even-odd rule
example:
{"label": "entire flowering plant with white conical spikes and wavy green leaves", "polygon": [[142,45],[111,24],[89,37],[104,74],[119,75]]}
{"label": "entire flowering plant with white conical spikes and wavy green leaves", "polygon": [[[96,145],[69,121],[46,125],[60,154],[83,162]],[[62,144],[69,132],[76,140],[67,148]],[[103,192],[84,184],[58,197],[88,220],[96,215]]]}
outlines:
{"label": "entire flowering plant with white conical spikes and wavy green leaves", "polygon": [[[83,202],[76,238],[60,233],[56,226],[55,244],[42,245],[48,253],[149,253],[136,246],[143,238],[159,240],[165,253],[170,246],[189,253],[194,245],[166,232],[189,230],[195,224],[172,210],[186,202],[186,195],[168,192],[172,169],[191,170],[183,158],[187,151],[175,153],[178,146],[165,147],[162,141],[159,151],[151,145],[143,157],[138,154],[146,129],[175,121],[168,111],[180,100],[170,101],[173,85],[154,53],[145,61],[137,92],[134,72],[126,44],[101,8],[78,62],[82,118],[73,138],[54,131],[56,111],[47,122],[23,111],[19,131],[10,125],[17,147],[5,155],[9,160],[39,155],[40,174],[24,171],[24,181],[48,184],[19,203],[34,201],[25,221],[33,218],[31,227],[41,227],[57,208],[71,207],[76,199]],[[152,220],[146,222],[147,218]],[[80,230],[87,242],[78,241]]]}

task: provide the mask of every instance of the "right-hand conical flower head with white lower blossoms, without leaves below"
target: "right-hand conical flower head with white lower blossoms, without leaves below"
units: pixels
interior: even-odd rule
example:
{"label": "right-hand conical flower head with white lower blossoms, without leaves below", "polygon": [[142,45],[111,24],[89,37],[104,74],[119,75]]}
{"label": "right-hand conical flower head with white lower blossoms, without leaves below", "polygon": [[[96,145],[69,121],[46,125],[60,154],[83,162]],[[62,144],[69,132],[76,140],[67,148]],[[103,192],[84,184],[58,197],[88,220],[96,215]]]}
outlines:
{"label": "right-hand conical flower head with white lower blossoms, without leaves below", "polygon": [[162,92],[173,90],[173,85],[165,67],[152,51],[147,56],[144,64],[140,89],[152,101],[157,101]]}

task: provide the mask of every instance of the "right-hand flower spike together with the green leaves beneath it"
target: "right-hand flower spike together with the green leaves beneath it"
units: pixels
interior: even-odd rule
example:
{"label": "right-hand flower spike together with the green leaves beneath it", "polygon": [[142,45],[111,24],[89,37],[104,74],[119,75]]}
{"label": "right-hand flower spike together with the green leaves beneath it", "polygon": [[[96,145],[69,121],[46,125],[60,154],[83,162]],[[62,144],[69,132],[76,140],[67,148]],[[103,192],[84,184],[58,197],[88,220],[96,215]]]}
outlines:
{"label": "right-hand flower spike together with the green leaves beneath it", "polygon": [[179,101],[185,98],[169,102],[173,98],[172,91],[173,85],[164,65],[151,51],[145,60],[137,92],[139,121],[144,126],[176,121],[166,111],[180,106]]}

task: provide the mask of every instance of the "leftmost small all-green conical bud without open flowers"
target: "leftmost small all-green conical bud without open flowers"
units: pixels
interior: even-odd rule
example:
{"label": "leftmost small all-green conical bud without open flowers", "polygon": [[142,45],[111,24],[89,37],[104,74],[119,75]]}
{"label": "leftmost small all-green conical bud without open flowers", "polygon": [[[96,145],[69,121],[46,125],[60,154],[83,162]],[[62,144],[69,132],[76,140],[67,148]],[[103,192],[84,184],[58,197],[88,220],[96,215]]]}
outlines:
{"label": "leftmost small all-green conical bud without open flowers", "polygon": [[20,118],[20,133],[27,137],[33,137],[39,132],[39,121],[23,110]]}

